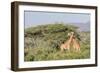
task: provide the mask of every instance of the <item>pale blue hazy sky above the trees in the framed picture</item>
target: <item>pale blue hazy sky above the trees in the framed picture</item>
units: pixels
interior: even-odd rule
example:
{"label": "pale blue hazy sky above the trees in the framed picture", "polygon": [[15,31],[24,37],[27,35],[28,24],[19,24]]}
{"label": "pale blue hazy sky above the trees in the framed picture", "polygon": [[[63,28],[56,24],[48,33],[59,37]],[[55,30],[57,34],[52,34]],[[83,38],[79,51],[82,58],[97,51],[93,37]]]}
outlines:
{"label": "pale blue hazy sky above the trees in the framed picture", "polygon": [[81,30],[90,29],[90,14],[67,12],[24,11],[25,28],[49,23],[74,23]]}

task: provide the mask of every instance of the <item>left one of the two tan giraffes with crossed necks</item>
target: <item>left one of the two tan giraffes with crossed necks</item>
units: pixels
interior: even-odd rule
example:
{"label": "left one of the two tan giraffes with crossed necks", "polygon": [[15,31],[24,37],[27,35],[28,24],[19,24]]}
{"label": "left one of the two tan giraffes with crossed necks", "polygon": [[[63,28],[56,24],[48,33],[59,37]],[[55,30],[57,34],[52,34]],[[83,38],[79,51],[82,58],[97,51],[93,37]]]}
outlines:
{"label": "left one of the two tan giraffes with crossed necks", "polygon": [[68,35],[70,35],[69,40],[67,40],[65,43],[61,44],[61,46],[60,46],[61,51],[66,50],[66,49],[68,51],[70,50],[71,42],[72,42],[72,39],[73,39],[73,36],[74,36],[74,32],[71,32]]}

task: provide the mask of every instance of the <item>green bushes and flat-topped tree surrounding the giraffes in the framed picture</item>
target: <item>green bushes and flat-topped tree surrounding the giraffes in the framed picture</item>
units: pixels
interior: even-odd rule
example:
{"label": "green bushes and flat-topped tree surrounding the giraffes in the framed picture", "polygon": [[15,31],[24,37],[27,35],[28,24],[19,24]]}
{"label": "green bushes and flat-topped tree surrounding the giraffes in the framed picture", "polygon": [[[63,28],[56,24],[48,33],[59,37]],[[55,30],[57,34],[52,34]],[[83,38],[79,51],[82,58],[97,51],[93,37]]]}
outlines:
{"label": "green bushes and flat-topped tree surrounding the giraffes in the framed picture", "polygon": [[[79,32],[73,25],[46,24],[25,29],[25,61],[86,59],[90,58],[90,32]],[[68,39],[68,32],[75,32],[81,44],[81,51],[60,51],[62,42]]]}

